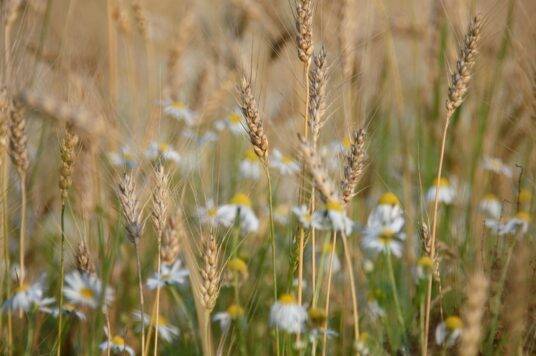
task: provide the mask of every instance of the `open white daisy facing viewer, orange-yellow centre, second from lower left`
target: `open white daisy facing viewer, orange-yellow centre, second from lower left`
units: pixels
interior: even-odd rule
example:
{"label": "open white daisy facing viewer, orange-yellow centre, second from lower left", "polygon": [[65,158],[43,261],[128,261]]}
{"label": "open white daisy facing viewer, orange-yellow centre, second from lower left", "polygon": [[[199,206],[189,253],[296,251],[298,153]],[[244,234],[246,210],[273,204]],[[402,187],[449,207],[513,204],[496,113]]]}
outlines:
{"label": "open white daisy facing viewer, orange-yellow centre, second from lower left", "polygon": [[[75,270],[65,276],[63,295],[72,304],[96,308],[99,305],[101,293],[102,283],[95,275],[82,274]],[[110,288],[106,288],[104,304],[109,304],[112,299],[113,291]]]}

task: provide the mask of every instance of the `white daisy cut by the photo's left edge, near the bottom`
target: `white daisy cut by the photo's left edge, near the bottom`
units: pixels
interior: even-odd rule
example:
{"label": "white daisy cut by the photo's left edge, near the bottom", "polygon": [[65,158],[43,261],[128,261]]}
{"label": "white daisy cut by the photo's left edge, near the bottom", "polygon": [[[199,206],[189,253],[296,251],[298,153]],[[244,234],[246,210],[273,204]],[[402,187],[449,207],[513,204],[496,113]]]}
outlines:
{"label": "white daisy cut by the photo's left edge, near the bottom", "polygon": [[3,310],[19,310],[27,312],[33,307],[37,307],[41,311],[46,312],[47,305],[54,303],[54,298],[45,298],[45,277],[42,276],[39,280],[31,285],[22,283],[17,286],[15,293],[11,298],[7,299],[2,305]]}

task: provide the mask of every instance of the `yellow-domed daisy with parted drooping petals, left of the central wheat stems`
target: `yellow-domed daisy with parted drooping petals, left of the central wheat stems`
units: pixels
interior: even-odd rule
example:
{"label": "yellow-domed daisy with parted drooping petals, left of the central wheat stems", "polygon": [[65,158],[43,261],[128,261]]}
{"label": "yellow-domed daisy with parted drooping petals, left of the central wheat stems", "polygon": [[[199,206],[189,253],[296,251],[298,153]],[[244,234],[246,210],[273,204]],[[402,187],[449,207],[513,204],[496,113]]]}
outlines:
{"label": "yellow-domed daisy with parted drooping petals, left of the central wheat stems", "polygon": [[216,220],[226,227],[231,227],[238,221],[242,231],[246,233],[259,229],[259,219],[251,209],[251,200],[243,193],[236,194],[229,204],[220,206]]}

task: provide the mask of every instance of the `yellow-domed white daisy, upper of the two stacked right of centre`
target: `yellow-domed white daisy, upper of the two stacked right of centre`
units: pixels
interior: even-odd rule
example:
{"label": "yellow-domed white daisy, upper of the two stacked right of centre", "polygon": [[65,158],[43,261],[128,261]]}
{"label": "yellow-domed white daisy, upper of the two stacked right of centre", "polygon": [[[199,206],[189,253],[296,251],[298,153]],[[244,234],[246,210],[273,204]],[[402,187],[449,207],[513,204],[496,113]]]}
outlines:
{"label": "yellow-domed white daisy, upper of the two stacked right of centre", "polygon": [[404,212],[397,196],[391,192],[383,194],[367,219],[367,229],[391,229],[399,233],[403,226]]}

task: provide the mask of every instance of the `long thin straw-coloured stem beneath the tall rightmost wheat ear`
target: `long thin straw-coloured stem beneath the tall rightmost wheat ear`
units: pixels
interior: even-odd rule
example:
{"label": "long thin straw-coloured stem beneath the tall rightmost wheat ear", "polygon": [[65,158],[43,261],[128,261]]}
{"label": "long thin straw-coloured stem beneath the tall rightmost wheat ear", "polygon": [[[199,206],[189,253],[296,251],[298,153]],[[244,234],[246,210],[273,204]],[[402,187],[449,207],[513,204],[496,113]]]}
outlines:
{"label": "long thin straw-coloured stem beneath the tall rightmost wheat ear", "polygon": [[[447,142],[447,132],[449,128],[450,118],[452,112],[448,111],[445,117],[445,126],[443,127],[443,138],[441,139],[441,152],[439,155],[439,167],[437,168],[437,177],[436,177],[436,191],[434,198],[434,210],[432,218],[432,238],[431,238],[431,249],[430,249],[430,258],[432,261],[435,259],[435,240],[436,240],[436,229],[437,229],[437,212],[439,208],[439,188],[437,185],[441,180],[441,174],[443,172],[443,160],[445,158],[445,146]],[[424,348],[421,350],[422,355],[426,356],[428,354],[428,334],[430,332],[430,303],[432,301],[432,283],[433,278],[428,280],[428,287],[426,290],[426,304],[425,304],[425,313],[424,313]]]}

